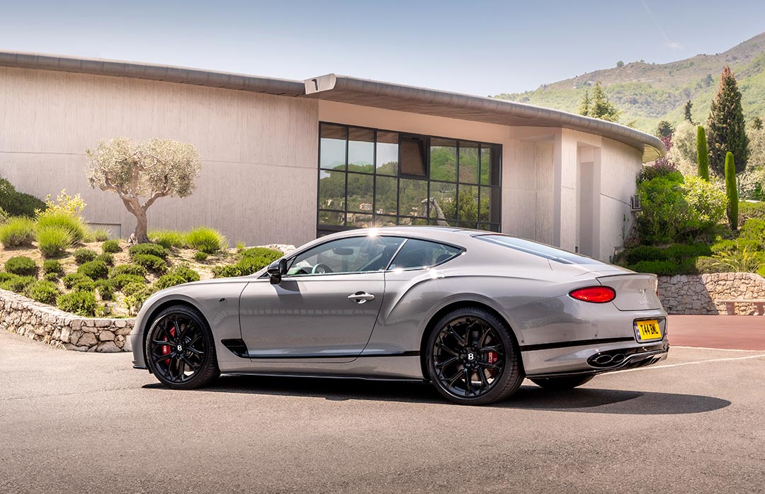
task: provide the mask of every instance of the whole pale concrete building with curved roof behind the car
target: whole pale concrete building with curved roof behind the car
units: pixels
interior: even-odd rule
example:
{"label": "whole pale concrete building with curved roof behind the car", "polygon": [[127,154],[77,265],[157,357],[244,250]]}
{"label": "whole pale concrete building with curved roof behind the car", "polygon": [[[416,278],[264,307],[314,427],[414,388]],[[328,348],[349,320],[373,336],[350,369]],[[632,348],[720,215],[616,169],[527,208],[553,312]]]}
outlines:
{"label": "whole pale concrete building with curved roof behind the car", "polygon": [[128,236],[116,195],[86,182],[99,139],[176,139],[197,190],[149,227],[215,227],[301,244],[349,227],[458,224],[607,260],[635,175],[662,142],[571,113],[328,74],[304,81],[0,52],[0,175],[37,197],[79,192],[88,221]]}

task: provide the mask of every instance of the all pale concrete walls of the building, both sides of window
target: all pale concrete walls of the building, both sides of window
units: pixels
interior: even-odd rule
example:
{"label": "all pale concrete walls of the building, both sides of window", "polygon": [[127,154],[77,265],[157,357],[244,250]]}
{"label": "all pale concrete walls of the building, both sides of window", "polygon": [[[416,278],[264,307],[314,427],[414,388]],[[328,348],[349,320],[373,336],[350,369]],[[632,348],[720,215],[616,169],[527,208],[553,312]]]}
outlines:
{"label": "all pale concrete walls of the building, both sides of window", "polygon": [[[203,159],[194,195],[162,198],[149,227],[223,231],[233,243],[302,244],[316,234],[318,122],[503,145],[502,226],[575,250],[583,221],[592,254],[608,260],[632,216],[640,151],[568,129],[502,126],[310,98],[276,97],[121,77],[0,67],[0,175],[44,198],[79,192],[86,218],[127,237],[132,215],[86,183],[86,148],[99,139],[192,142]],[[592,214],[581,214],[583,163],[595,178]],[[590,166],[590,165],[588,165]],[[584,189],[583,189],[584,190]],[[583,243],[586,244],[586,243]]]}

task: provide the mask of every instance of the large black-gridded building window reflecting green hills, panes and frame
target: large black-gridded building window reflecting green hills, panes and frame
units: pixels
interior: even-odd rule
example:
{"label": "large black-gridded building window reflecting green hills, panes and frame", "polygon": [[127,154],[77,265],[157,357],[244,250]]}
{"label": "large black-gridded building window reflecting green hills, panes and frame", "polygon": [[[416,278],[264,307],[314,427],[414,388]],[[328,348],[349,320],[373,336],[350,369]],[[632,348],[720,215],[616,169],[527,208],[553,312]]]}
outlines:
{"label": "large black-gridded building window reflecting green hills, panes and frame", "polygon": [[319,234],[394,224],[500,231],[501,146],[336,123],[319,134]]}

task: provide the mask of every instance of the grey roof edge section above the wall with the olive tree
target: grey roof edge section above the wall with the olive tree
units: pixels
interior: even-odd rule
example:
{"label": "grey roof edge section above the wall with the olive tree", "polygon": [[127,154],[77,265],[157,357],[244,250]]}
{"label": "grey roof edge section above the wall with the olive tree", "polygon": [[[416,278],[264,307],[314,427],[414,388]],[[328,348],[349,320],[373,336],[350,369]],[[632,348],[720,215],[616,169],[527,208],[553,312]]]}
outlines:
{"label": "grey roof edge section above the wall with the olive tree", "polygon": [[161,80],[164,82],[221,87],[224,89],[268,93],[278,96],[303,96],[299,80],[274,79],[173,65],[142,64],[103,58],[61,57],[57,55],[0,51],[0,67],[58,70],[114,77]]}

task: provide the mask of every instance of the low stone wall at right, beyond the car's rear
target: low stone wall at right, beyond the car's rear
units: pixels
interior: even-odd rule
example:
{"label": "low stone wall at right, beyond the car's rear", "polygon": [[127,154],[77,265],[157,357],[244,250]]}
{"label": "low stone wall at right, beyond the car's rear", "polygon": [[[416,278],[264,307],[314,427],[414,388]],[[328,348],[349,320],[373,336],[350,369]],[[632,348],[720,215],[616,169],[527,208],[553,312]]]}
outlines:
{"label": "low stone wall at right, beyond the car's rear", "polygon": [[[670,314],[725,314],[718,300],[765,299],[765,278],[754,273],[659,276],[659,298]],[[737,303],[737,314],[754,314],[754,304]]]}

